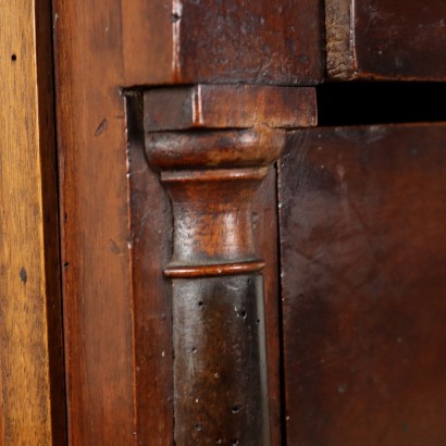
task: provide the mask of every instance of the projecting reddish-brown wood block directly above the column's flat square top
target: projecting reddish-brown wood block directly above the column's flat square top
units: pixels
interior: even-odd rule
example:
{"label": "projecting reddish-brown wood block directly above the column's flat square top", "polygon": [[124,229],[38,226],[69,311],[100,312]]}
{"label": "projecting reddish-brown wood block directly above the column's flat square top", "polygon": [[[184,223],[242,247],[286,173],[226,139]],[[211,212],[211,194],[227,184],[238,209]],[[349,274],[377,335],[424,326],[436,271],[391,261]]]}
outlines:
{"label": "projecting reddish-brown wood block directly above the column's flat square top", "polygon": [[314,84],[323,74],[320,0],[135,0],[122,18],[126,86]]}

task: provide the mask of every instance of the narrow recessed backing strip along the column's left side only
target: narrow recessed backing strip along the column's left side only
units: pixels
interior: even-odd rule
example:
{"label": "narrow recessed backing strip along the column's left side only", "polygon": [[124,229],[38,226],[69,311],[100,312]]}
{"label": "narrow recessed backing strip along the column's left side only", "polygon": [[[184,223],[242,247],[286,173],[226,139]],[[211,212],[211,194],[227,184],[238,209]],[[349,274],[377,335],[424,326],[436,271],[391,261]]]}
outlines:
{"label": "narrow recessed backing strip along the column's left side only", "polygon": [[172,210],[145,156],[143,96],[126,98],[135,318],[137,444],[171,446],[173,435]]}

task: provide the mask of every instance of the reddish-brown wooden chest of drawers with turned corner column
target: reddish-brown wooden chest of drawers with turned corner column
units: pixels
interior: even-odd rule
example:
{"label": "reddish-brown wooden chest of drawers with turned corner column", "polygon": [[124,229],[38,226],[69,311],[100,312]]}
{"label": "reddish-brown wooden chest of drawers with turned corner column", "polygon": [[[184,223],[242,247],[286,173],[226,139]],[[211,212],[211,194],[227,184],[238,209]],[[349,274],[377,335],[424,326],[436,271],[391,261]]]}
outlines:
{"label": "reddish-brown wooden chest of drawers with turned corner column", "polygon": [[446,2],[44,3],[47,443],[445,444]]}

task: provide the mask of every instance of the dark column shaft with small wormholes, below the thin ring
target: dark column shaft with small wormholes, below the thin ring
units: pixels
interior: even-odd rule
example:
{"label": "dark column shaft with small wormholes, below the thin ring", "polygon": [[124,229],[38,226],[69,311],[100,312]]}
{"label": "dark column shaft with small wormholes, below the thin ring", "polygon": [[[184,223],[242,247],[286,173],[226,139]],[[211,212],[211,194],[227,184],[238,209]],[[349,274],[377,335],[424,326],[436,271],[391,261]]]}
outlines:
{"label": "dark column shaft with small wormholes, below the thin ring", "polygon": [[175,444],[270,443],[260,275],[173,281]]}

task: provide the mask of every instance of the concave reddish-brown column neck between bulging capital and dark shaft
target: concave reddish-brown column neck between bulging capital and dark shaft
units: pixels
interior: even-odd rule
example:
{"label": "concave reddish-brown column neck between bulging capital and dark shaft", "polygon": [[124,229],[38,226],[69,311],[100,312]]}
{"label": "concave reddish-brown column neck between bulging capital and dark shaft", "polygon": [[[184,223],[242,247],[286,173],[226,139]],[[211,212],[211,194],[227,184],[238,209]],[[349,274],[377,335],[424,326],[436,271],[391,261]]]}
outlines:
{"label": "concave reddish-brown column neck between bulging capital and dark shaft", "polygon": [[[174,215],[168,275],[178,276],[175,272],[187,268],[201,269],[202,276],[263,269],[256,252],[251,203],[267,173],[267,168],[161,173]],[[241,270],[231,271],[234,265]]]}

